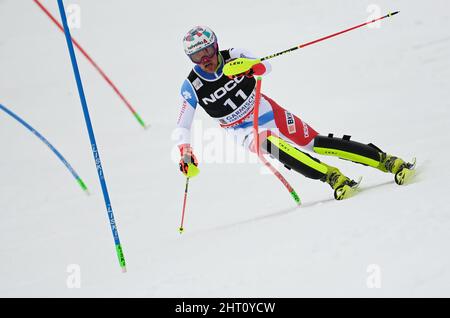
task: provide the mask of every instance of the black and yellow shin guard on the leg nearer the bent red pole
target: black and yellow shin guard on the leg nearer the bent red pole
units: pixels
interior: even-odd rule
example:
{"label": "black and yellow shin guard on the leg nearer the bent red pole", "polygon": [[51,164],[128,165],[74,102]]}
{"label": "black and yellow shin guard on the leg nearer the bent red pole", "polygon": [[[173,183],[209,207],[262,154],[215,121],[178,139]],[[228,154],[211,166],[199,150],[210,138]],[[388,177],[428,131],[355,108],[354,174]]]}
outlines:
{"label": "black and yellow shin guard on the leg nearer the bent red pole", "polygon": [[286,168],[293,169],[307,178],[322,179],[328,171],[327,166],[319,160],[277,136],[269,136],[262,143],[262,148],[278,159]]}

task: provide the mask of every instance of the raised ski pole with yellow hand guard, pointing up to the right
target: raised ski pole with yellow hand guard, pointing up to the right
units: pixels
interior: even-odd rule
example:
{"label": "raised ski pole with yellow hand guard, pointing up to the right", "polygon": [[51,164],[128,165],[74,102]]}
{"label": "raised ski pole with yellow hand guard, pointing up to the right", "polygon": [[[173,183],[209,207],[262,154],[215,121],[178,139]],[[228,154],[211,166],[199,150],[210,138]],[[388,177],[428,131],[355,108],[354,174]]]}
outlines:
{"label": "raised ski pole with yellow hand guard, pointing up to the right", "polygon": [[228,62],[227,64],[225,64],[225,66],[223,68],[223,73],[225,75],[227,75],[227,76],[244,73],[244,72],[248,71],[250,68],[252,68],[254,65],[256,65],[258,63],[261,63],[263,61],[272,59],[274,57],[277,57],[277,56],[280,56],[280,55],[283,55],[283,54],[286,54],[286,53],[290,53],[290,52],[296,51],[298,49],[303,49],[303,48],[305,48],[307,46],[310,46],[310,45],[313,45],[313,44],[316,44],[316,43],[319,43],[319,42],[322,42],[322,41],[334,38],[334,37],[336,37],[338,35],[350,32],[350,31],[355,30],[355,29],[359,29],[359,28],[361,28],[363,26],[375,23],[377,21],[380,21],[380,20],[383,20],[383,19],[386,19],[386,18],[390,18],[390,17],[398,14],[399,12],[400,11],[396,11],[396,12],[393,12],[393,13],[386,14],[385,16],[382,16],[380,18],[377,18],[377,19],[374,19],[374,20],[371,20],[371,21],[368,21],[368,22],[356,25],[354,27],[351,27],[351,28],[348,28],[348,29],[345,29],[345,30],[342,30],[342,31],[339,31],[339,32],[336,32],[336,33],[333,33],[331,35],[324,36],[324,37],[322,37],[320,39],[317,39],[317,40],[314,40],[314,41],[311,41],[311,42],[308,42],[308,43],[304,43],[304,44],[300,44],[300,45],[294,46],[294,47],[292,47],[290,49],[287,49],[287,50],[284,50],[284,51],[281,51],[281,52],[278,52],[278,53],[275,53],[275,54],[271,54],[271,55],[268,55],[268,56],[260,58],[260,59],[238,58],[236,60],[233,60],[233,61]]}

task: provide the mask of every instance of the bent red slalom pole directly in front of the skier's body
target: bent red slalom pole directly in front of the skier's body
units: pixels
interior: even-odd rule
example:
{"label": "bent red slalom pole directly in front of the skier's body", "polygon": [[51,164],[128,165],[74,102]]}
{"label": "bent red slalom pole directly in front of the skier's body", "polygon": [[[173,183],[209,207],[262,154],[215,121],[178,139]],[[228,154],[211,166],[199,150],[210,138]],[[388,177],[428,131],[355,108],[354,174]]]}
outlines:
{"label": "bent red slalom pole directly in front of the skier's body", "polygon": [[270,164],[270,162],[264,157],[264,155],[260,151],[260,142],[259,142],[259,104],[261,102],[261,86],[262,86],[262,78],[261,76],[257,77],[256,79],[256,96],[255,96],[255,106],[253,108],[253,134],[254,139],[256,143],[256,154],[258,155],[259,159],[263,162],[263,164],[269,168],[269,170],[278,178],[278,180],[283,183],[285,188],[289,191],[292,198],[295,200],[295,202],[300,205],[301,200],[298,196],[297,192],[294,190],[294,188],[289,184],[289,182],[283,177],[283,175]]}

